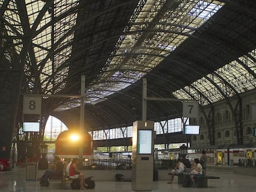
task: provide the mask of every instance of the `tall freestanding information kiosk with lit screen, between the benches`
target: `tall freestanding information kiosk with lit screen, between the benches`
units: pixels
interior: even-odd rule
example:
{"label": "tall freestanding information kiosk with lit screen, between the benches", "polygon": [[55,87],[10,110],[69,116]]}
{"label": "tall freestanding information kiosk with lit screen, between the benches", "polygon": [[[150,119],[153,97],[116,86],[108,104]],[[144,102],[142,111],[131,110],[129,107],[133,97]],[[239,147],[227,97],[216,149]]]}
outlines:
{"label": "tall freestanding information kiosk with lit screen, between the benches", "polygon": [[153,121],[136,121],[132,135],[132,190],[153,190]]}

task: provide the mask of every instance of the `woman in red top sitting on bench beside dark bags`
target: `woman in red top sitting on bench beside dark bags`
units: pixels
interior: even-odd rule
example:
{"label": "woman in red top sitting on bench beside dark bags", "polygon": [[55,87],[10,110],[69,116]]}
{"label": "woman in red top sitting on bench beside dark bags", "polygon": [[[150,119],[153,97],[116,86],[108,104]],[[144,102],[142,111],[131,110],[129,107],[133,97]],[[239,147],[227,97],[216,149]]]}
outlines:
{"label": "woman in red top sitting on bench beside dark bags", "polygon": [[70,178],[79,178],[80,180],[80,190],[85,190],[85,177],[83,173],[79,172],[78,169],[79,159],[74,158],[72,164],[69,167],[69,177]]}

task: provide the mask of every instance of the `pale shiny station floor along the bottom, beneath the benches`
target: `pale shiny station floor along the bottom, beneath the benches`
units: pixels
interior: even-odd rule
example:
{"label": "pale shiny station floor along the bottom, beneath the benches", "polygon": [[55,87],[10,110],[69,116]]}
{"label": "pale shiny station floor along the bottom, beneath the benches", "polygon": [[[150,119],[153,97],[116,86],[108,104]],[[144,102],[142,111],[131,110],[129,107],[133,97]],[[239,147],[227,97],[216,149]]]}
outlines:
{"label": "pale shiny station floor along the bottom, beneath the benches", "polygon": [[[256,171],[256,169],[255,169]],[[208,172],[209,175],[221,177],[220,180],[209,180],[208,188],[183,188],[177,184],[177,178],[174,178],[173,184],[166,181],[153,182],[153,192],[171,192],[171,191],[218,191],[218,192],[236,192],[236,191],[255,191],[256,177],[237,175],[234,173]],[[67,189],[62,190],[59,182],[51,182],[48,187],[41,187],[39,182],[27,181],[25,179],[25,168],[15,168],[11,172],[0,172],[0,191],[80,191],[72,190],[69,185]],[[103,182],[97,181],[95,189],[85,190],[92,192],[130,192],[133,191],[130,182]]]}

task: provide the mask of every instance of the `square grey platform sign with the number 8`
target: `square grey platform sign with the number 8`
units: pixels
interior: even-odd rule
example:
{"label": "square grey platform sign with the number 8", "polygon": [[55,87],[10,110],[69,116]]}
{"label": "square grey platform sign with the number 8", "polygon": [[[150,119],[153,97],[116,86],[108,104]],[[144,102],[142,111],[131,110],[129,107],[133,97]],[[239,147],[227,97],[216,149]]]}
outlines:
{"label": "square grey platform sign with the number 8", "polygon": [[24,96],[23,114],[41,114],[41,97]]}

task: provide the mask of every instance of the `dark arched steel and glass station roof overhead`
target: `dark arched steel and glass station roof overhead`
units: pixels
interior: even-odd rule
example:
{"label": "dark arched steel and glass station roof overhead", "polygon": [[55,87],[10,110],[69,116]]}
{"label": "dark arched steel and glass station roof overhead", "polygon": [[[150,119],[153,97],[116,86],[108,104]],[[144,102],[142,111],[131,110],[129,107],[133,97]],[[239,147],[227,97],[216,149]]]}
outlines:
{"label": "dark arched steel and glass station roof overhead", "polygon": [[43,98],[43,120],[78,126],[81,75],[87,130],[142,119],[142,78],[148,96],[177,99],[149,101],[154,121],[182,117],[181,101],[206,106],[256,86],[255,1],[1,0],[0,7],[4,143],[22,120],[24,95]]}

